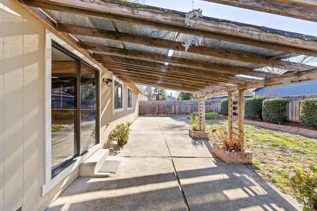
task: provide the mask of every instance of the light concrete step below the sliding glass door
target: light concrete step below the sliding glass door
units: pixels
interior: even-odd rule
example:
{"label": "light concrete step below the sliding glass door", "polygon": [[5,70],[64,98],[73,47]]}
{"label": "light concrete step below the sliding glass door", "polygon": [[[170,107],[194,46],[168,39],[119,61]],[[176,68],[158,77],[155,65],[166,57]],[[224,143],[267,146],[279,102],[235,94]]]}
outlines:
{"label": "light concrete step below the sliding glass door", "polygon": [[89,158],[87,158],[79,166],[79,176],[82,177],[107,177],[108,172],[98,172],[100,166],[105,162],[109,156],[108,149],[99,149]]}

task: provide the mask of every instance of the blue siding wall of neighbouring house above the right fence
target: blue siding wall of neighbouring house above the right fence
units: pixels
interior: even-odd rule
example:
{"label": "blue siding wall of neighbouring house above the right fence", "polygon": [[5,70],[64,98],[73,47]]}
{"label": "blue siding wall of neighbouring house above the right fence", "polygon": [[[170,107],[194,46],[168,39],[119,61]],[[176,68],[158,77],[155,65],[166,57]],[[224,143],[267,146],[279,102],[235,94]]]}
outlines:
{"label": "blue siding wall of neighbouring house above the right fence", "polygon": [[317,81],[306,81],[293,84],[263,87],[255,90],[255,95],[263,97],[285,97],[295,95],[317,94]]}

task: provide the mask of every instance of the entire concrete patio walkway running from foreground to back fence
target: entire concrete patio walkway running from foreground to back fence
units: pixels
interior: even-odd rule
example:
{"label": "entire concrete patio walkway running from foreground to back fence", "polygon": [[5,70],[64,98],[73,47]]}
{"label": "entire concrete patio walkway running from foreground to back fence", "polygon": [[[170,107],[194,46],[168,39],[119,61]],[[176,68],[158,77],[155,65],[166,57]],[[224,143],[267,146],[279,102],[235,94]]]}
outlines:
{"label": "entire concrete patio walkway running from foreground to back fence", "polygon": [[225,164],[186,116],[141,116],[107,178],[79,177],[48,211],[295,211],[300,205],[243,164]]}

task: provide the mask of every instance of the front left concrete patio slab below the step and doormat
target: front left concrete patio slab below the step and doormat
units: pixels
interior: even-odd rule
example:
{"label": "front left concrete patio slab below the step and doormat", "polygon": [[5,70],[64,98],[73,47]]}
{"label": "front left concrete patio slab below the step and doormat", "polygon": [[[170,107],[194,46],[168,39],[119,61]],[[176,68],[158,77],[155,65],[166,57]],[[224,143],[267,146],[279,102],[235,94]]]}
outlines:
{"label": "front left concrete patio slab below the step and doormat", "polygon": [[116,174],[78,178],[47,211],[187,210],[170,158],[119,160]]}

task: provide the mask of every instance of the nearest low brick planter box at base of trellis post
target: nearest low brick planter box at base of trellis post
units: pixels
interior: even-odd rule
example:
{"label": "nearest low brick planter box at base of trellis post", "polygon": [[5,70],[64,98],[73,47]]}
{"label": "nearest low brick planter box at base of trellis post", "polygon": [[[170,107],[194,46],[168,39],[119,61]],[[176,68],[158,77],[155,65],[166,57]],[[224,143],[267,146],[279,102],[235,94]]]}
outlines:
{"label": "nearest low brick planter box at base of trellis post", "polygon": [[212,153],[225,163],[251,163],[253,155],[253,153],[249,151],[229,152],[222,149],[217,144],[212,145]]}

